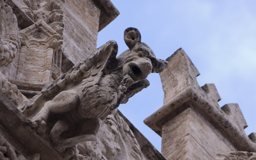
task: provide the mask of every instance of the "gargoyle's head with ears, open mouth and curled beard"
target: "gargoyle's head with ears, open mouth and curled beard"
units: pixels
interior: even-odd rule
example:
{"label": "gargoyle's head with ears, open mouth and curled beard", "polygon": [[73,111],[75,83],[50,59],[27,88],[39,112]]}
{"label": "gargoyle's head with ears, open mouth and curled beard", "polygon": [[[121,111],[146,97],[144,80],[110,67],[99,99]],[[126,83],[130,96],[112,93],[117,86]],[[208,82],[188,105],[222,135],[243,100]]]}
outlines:
{"label": "gargoyle's head with ears, open mouth and curled beard", "polygon": [[119,86],[121,92],[125,92],[132,84],[144,80],[150,73],[162,72],[168,64],[165,60],[157,59],[151,48],[141,42],[138,29],[132,27],[125,29],[124,42],[129,50],[118,56],[124,59],[124,78]]}

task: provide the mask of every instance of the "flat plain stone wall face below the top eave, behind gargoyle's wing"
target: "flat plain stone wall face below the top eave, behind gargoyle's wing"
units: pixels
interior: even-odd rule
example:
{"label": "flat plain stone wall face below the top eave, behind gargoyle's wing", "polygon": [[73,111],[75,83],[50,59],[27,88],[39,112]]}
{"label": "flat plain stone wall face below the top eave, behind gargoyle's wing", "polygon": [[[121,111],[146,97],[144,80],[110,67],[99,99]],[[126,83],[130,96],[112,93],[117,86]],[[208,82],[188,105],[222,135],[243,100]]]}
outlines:
{"label": "flat plain stone wall face below the top eave, behind gargoyle's wing", "polygon": [[65,14],[62,50],[78,64],[96,50],[100,10],[92,0],[66,1],[61,6]]}

